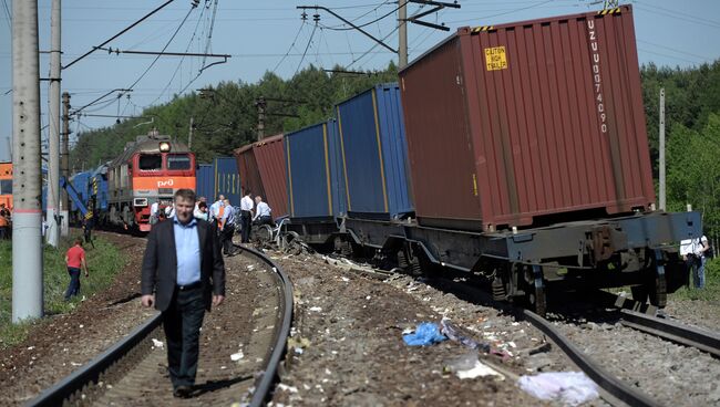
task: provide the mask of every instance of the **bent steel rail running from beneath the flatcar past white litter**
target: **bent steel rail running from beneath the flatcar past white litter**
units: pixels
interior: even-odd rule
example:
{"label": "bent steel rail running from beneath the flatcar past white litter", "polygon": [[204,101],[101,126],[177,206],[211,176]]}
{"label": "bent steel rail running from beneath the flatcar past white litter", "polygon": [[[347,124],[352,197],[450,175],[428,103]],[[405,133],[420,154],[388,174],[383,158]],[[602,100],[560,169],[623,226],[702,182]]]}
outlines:
{"label": "bent steel rail running from beneath the flatcar past white litter", "polygon": [[618,400],[626,403],[629,406],[647,406],[655,407],[661,406],[649,396],[631,388],[625,382],[613,376],[610,373],[601,368],[595,361],[585,355],[578,349],[570,341],[568,341],[559,331],[557,331],[547,320],[537,315],[536,313],[524,310],[523,314],[536,328],[549,336],[557,346],[580,368],[585,374],[593,379],[601,389],[607,392]]}

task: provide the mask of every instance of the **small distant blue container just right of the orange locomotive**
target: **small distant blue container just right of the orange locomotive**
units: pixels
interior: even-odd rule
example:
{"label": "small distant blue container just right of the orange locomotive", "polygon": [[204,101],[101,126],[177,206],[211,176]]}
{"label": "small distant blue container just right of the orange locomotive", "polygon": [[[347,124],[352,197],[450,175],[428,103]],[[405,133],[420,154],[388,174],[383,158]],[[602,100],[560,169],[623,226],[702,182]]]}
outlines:
{"label": "small distant blue container just right of the orange locomotive", "polygon": [[233,157],[218,157],[210,164],[200,164],[196,171],[195,194],[214,202],[224,195],[234,206],[240,205],[240,176]]}

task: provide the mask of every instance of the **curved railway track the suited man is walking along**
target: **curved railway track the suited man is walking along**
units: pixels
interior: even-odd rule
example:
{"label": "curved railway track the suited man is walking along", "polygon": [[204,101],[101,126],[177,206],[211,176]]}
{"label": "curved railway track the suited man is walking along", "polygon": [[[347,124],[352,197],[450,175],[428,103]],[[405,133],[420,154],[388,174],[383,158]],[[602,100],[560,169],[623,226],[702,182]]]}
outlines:
{"label": "curved railway track the suited man is walking along", "polygon": [[205,316],[192,398],[172,395],[156,314],[28,406],[261,405],[285,353],[292,288],[279,267],[253,249],[226,259],[226,268],[228,295]]}

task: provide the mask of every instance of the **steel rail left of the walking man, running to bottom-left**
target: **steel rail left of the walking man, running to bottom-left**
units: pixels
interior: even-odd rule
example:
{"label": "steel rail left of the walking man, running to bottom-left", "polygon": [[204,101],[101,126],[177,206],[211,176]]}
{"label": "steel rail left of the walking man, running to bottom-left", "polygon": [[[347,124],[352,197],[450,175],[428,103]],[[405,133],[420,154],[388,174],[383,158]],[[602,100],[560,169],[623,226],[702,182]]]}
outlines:
{"label": "steel rail left of the walking man, running to bottom-left", "polygon": [[25,406],[62,406],[64,400],[72,397],[75,392],[82,390],[85,385],[97,383],[100,375],[107,371],[114,363],[123,358],[123,356],[141,342],[145,341],[147,336],[161,325],[161,314],[156,313],[123,340],[111,346],[107,351],[97,355],[86,365],[73,372],[70,376],[66,376],[55,383],[52,387],[42,392],[38,397],[28,401]]}

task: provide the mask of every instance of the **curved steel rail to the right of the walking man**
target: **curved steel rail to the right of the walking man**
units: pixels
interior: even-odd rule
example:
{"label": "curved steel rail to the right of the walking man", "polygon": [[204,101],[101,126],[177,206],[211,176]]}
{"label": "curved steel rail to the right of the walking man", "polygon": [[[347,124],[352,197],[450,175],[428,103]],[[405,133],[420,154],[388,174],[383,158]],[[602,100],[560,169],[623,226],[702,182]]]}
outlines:
{"label": "curved steel rail to the right of the walking man", "polygon": [[272,269],[272,271],[275,271],[278,274],[282,283],[281,285],[282,323],[280,325],[277,340],[272,347],[272,353],[268,358],[265,371],[260,373],[260,376],[256,380],[255,392],[253,393],[253,398],[250,399],[251,407],[259,407],[265,405],[265,400],[267,399],[270,389],[275,383],[278,366],[280,365],[280,361],[285,355],[285,347],[287,346],[288,343],[288,336],[290,336],[290,325],[292,323],[292,303],[294,303],[292,283],[290,282],[290,278],[285,273],[285,271],[279,265],[275,264],[275,262],[272,262],[272,260],[270,260],[268,257],[247,246],[241,247],[241,249],[243,251],[247,251],[256,255],[264,263],[268,264]]}

